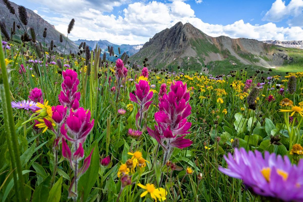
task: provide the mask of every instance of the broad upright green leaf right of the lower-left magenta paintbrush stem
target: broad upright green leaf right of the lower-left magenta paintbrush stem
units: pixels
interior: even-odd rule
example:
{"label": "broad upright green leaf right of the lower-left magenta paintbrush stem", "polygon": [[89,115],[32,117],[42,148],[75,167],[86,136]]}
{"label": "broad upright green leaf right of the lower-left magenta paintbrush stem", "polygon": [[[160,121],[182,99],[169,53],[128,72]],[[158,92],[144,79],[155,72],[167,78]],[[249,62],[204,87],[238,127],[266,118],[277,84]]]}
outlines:
{"label": "broad upright green leaf right of the lower-left magenta paintbrush stem", "polygon": [[[94,186],[97,178],[98,178],[98,171],[100,167],[99,161],[99,149],[98,149],[98,141],[92,143],[91,147],[89,148],[88,154],[94,149],[91,157],[91,164],[87,171],[80,177],[78,182],[78,200],[79,201],[86,201],[92,187]],[[81,200],[80,200],[81,198]]]}

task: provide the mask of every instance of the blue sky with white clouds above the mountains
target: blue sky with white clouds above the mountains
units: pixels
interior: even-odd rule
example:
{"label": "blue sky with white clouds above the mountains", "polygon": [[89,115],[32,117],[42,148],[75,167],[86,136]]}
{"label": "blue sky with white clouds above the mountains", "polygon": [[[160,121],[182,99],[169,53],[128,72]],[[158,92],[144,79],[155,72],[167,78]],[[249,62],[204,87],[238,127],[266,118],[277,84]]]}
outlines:
{"label": "blue sky with white clouds above the mountains", "polygon": [[144,44],[177,22],[217,37],[303,40],[303,0],[12,0],[72,40]]}

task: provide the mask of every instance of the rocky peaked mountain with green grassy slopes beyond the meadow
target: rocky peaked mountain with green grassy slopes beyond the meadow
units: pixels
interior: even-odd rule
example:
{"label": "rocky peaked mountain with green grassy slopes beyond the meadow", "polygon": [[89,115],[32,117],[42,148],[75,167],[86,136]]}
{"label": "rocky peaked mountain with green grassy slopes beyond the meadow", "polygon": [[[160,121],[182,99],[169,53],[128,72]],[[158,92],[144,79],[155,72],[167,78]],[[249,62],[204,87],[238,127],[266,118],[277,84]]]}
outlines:
{"label": "rocky peaked mountain with green grassy slopes beyond the meadow", "polygon": [[[303,51],[300,54],[302,56]],[[142,65],[148,58],[151,67],[169,70],[177,70],[180,66],[181,69],[205,71],[206,65],[210,72],[220,73],[220,70],[250,68],[255,71],[288,65],[298,57],[292,55],[295,55],[292,49],[255,39],[211,37],[190,23],[178,22],[155,34],[129,61]]]}

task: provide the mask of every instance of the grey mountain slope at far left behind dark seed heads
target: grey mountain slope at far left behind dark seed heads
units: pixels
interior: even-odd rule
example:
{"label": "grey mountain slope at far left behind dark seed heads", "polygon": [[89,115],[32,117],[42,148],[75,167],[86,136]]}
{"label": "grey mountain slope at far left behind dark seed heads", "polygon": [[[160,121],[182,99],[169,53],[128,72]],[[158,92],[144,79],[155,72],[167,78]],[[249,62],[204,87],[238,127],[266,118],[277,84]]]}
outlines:
{"label": "grey mountain slope at far left behind dark seed heads", "polygon": [[[11,2],[11,5],[15,8],[16,15],[19,16],[18,15],[18,5],[13,2]],[[42,45],[43,45],[44,38],[42,35],[43,35],[44,28],[47,28],[45,45],[46,44],[50,45],[51,40],[53,40],[54,45],[56,45],[56,48],[54,48],[54,50],[63,52],[66,37],[62,34],[63,42],[60,43],[60,34],[61,33],[55,29],[54,25],[49,24],[47,21],[45,21],[43,18],[41,18],[40,15],[36,14],[35,12],[33,12],[32,10],[30,10],[28,8],[26,8],[26,12],[28,15],[28,24],[26,25],[27,32],[30,33],[29,28],[33,27],[35,30],[35,33],[36,33],[36,40],[39,42],[42,42]],[[9,12],[9,10],[6,8],[6,6],[2,0],[0,0],[0,21],[5,22],[8,33],[11,33],[11,28],[13,26],[14,21],[16,22],[16,25],[20,25],[16,16]],[[67,30],[67,27],[66,27],[66,30]],[[20,36],[21,36],[20,32],[21,32],[21,34],[23,34],[24,30],[21,28],[19,31],[18,28],[16,27],[15,39],[20,40]],[[78,51],[78,47],[72,40],[68,39],[67,44],[66,44],[65,53],[70,52],[70,50],[72,50],[72,52],[76,53]]]}

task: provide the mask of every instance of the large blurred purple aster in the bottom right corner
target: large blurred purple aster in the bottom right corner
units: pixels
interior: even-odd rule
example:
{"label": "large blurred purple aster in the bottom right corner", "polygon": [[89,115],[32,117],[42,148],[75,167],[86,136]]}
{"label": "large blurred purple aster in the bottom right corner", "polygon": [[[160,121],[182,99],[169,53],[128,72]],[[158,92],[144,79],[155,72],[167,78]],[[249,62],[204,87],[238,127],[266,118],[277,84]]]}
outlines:
{"label": "large blurred purple aster in the bottom right corner", "polygon": [[276,156],[265,151],[255,153],[244,148],[235,149],[235,154],[224,156],[228,168],[219,170],[230,176],[243,180],[243,184],[251,187],[259,195],[273,197],[284,201],[303,201],[303,160],[291,165],[285,155]]}

